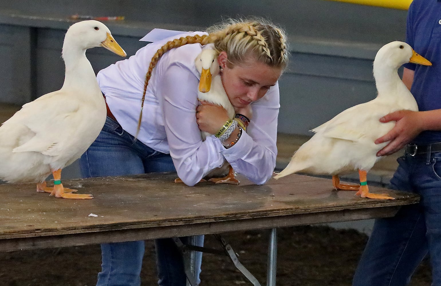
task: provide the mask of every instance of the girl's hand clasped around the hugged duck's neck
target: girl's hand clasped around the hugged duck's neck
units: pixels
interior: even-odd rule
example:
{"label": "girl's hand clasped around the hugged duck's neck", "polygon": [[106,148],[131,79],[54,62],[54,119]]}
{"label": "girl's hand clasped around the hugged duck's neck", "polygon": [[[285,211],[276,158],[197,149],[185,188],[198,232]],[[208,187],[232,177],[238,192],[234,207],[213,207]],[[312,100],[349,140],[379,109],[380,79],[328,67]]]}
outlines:
{"label": "girl's hand clasped around the hugged duck's neck", "polygon": [[228,119],[227,111],[219,105],[201,101],[196,108],[196,123],[201,131],[209,134],[216,134]]}

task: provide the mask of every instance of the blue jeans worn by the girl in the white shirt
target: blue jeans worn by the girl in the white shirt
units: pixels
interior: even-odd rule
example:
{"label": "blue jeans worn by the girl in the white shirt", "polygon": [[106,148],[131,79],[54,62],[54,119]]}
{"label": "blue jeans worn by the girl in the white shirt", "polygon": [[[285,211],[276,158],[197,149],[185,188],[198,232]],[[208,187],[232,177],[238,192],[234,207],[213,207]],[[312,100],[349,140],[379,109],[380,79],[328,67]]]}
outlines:
{"label": "blue jeans worn by the girl in the white shirt", "polygon": [[[97,139],[80,158],[83,178],[135,175],[175,171],[172,158],[149,148],[125,132],[120,124],[107,117]],[[185,243],[187,237],[181,238]],[[197,238],[203,245],[204,236]],[[101,245],[102,264],[97,286],[139,286],[144,241],[105,243]],[[181,253],[171,238],[156,239],[158,284],[185,286],[187,278]],[[196,253],[199,283],[202,253]]]}

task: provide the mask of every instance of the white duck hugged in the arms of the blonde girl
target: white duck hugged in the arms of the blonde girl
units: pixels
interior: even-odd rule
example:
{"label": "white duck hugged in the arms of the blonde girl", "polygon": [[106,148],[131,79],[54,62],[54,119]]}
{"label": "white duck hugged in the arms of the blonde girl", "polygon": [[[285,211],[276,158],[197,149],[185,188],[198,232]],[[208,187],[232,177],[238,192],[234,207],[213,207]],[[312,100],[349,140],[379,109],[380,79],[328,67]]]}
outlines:
{"label": "white duck hugged in the arms of the blonde girl", "polygon": [[[234,119],[234,107],[227,93],[225,93],[224,85],[222,85],[220,68],[217,63],[218,54],[211,46],[212,45],[207,45],[204,47],[202,52],[194,60],[196,69],[201,74],[198,87],[198,100],[222,106],[227,111],[228,117]],[[211,136],[211,134],[201,131],[201,136],[202,141],[205,141],[206,137]],[[213,169],[204,178],[217,184],[239,184],[239,181],[235,178],[233,168],[226,160],[221,167]],[[201,182],[205,181],[205,179],[201,180]],[[182,180],[176,179],[175,182],[182,182]]]}

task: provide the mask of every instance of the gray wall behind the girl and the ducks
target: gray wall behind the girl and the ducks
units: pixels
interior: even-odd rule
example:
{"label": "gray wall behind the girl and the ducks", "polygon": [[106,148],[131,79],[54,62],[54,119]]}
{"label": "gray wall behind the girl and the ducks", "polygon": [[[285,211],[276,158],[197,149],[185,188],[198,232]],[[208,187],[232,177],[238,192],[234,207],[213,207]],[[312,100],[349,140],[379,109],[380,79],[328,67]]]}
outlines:
{"label": "gray wall behind the girl and the ducks", "polygon": [[[5,1],[6,2],[6,1]],[[8,1],[0,10],[0,102],[24,104],[59,89],[61,47],[69,15],[124,15],[106,22],[132,55],[153,28],[202,30],[222,18],[257,15],[284,26],[291,63],[280,79],[279,132],[308,130],[375,97],[372,61],[389,41],[403,40],[407,11],[324,0]],[[119,60],[105,49],[87,56],[95,71]]]}

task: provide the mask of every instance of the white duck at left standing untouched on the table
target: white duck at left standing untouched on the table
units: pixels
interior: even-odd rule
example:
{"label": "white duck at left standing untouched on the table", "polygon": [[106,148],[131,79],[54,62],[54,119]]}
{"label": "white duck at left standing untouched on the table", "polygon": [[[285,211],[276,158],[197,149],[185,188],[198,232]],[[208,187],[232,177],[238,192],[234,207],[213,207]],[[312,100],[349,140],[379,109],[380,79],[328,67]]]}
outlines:
{"label": "white duck at left standing untouched on the table", "polygon": [[[68,199],[91,199],[73,194],[61,184],[61,170],[92,144],[106,119],[106,106],[86,49],[105,47],[126,56],[101,22],[73,24],[66,33],[62,56],[66,66],[63,87],[24,104],[0,127],[0,178],[11,183],[37,183],[37,192]],[[54,187],[46,187],[52,173]]]}

